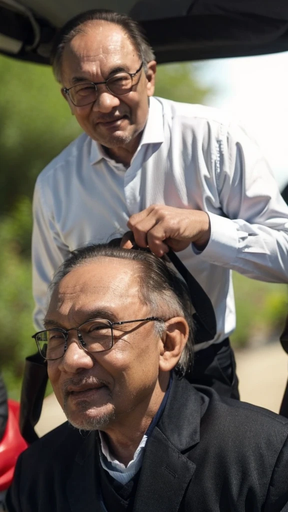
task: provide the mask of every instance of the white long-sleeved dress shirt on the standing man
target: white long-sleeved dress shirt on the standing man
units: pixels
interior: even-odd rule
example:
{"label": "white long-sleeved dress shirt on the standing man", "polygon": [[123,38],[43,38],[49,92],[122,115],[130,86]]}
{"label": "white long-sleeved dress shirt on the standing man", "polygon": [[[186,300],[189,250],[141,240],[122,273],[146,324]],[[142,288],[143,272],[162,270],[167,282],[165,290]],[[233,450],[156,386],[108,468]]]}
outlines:
{"label": "white long-sleeved dress shirt on the standing man", "polygon": [[257,144],[216,109],[154,97],[128,168],[83,134],[38,176],[32,241],[37,328],[43,328],[48,285],[69,252],[121,236],[132,214],[157,203],[210,216],[207,247],[178,255],[211,298],[215,343],[235,329],[231,270],[288,282],[288,208]]}

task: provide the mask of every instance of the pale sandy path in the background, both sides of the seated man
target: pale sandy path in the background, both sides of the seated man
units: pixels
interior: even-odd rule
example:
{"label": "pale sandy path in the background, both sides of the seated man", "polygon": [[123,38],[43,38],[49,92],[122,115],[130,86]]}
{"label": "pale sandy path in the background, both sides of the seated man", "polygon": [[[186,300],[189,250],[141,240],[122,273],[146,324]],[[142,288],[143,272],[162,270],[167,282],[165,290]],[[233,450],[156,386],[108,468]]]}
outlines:
{"label": "pale sandy path in the background, both sides of the seated man", "polygon": [[[236,353],[241,400],[279,412],[288,376],[288,356],[279,343]],[[54,395],[45,399],[37,432],[44,435],[66,420]]]}

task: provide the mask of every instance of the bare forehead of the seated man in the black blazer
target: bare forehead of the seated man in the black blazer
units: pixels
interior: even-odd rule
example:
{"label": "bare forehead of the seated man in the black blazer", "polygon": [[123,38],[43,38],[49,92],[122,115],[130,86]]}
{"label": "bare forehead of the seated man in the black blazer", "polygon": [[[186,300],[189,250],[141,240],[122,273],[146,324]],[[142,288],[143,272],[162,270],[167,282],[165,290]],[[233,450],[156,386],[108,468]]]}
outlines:
{"label": "bare forehead of the seated man in the black blazer", "polygon": [[[115,316],[141,307],[138,262],[98,258],[74,268],[54,290],[47,317],[71,319],[93,311],[111,311]],[[126,315],[127,316],[127,315]],[[84,317],[83,317],[84,318]]]}

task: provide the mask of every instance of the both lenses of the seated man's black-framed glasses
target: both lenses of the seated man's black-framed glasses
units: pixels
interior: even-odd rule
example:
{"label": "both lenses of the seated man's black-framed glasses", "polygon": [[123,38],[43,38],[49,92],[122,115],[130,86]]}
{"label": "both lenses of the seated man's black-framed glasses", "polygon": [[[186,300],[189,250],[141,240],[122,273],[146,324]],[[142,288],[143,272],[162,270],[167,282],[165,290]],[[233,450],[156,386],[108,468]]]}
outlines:
{"label": "both lenses of the seated man's black-framed glasses", "polygon": [[[113,345],[112,326],[109,321],[91,320],[78,329],[80,343],[89,352],[102,352]],[[40,353],[45,359],[58,359],[65,354],[66,334],[58,329],[39,332],[36,342]]]}

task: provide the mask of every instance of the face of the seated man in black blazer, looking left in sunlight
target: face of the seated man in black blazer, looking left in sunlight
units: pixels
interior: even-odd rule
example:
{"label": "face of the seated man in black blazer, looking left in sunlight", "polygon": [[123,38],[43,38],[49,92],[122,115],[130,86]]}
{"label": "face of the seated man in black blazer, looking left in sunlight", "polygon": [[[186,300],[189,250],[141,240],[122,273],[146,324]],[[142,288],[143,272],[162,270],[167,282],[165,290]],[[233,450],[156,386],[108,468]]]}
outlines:
{"label": "face of the seated man in black blazer, looking left in sunlight", "polygon": [[[118,322],[151,316],[139,297],[140,271],[138,262],[114,258],[74,268],[52,294],[46,328],[71,329],[99,317]],[[74,426],[105,430],[157,410],[169,371],[159,370],[163,343],[154,322],[115,327],[114,346],[107,352],[89,354],[77,339],[72,330],[65,355],[48,361],[56,398]]]}

